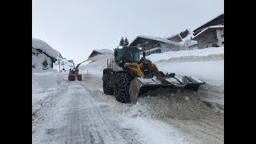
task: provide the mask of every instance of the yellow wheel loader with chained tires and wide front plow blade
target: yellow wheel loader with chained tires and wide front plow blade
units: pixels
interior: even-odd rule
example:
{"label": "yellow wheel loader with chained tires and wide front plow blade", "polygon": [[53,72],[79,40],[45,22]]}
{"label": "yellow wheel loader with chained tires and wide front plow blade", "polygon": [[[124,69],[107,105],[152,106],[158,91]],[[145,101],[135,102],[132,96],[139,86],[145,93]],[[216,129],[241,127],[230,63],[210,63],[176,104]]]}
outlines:
{"label": "yellow wheel loader with chained tires and wide front plow blade", "polygon": [[174,73],[163,74],[158,67],[145,58],[142,48],[137,46],[118,46],[114,49],[114,58],[107,60],[107,67],[103,70],[104,94],[114,94],[118,102],[136,104],[139,94],[157,88],[169,88],[170,93],[177,90],[198,91],[202,80],[194,77],[181,77]]}

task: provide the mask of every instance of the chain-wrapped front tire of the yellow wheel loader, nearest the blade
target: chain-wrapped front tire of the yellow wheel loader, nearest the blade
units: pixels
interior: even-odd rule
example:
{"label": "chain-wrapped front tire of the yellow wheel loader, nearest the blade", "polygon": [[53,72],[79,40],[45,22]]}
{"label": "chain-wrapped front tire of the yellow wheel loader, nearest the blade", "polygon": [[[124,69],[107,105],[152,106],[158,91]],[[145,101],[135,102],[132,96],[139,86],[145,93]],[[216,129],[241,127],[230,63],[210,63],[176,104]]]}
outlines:
{"label": "chain-wrapped front tire of the yellow wheel loader, nearest the blade", "polygon": [[126,73],[116,74],[116,82],[114,86],[114,96],[118,102],[130,102],[130,75]]}

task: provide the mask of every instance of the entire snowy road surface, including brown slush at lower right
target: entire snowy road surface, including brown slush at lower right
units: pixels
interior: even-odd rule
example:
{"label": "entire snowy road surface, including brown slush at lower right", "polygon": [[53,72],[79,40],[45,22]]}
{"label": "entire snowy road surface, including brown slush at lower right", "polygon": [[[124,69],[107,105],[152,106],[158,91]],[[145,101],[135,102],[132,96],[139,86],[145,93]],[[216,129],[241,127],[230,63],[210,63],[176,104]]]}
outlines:
{"label": "entire snowy road surface, including brown slush at lower right", "polygon": [[113,96],[91,91],[97,91],[100,79],[62,85],[32,114],[33,143],[223,143],[222,122],[211,126],[212,122],[129,117],[113,109]]}

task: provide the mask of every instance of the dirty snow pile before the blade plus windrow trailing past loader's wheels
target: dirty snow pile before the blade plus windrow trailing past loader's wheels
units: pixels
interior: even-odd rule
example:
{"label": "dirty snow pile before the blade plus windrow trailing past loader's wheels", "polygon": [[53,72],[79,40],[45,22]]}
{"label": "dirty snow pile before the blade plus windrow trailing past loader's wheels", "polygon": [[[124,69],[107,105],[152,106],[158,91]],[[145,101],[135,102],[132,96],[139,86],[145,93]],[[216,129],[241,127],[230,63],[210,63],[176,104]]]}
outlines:
{"label": "dirty snow pile before the blade plus windrow trailing past loader's wheels", "polygon": [[[98,81],[98,78],[89,78],[86,83]],[[217,103],[202,102],[199,94],[193,91],[178,91],[177,94],[170,94],[166,89],[151,90],[146,94],[141,94],[136,105],[130,103],[117,102],[114,95],[102,94],[98,90],[97,84],[88,86],[90,94],[98,96],[104,102],[109,102],[110,106],[120,114],[127,114],[129,117],[146,118],[172,118],[181,120],[195,120],[207,118],[209,115],[223,115],[224,107]]]}

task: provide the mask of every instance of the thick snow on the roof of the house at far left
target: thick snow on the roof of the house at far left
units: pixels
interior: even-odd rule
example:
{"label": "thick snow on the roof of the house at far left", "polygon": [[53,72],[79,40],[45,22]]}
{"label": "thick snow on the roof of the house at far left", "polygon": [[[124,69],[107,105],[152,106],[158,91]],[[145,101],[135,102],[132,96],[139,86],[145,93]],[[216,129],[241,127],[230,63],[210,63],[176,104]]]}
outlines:
{"label": "thick snow on the roof of the house at far left", "polygon": [[32,47],[35,49],[40,49],[46,54],[50,55],[50,57],[58,58],[58,51],[54,50],[50,45],[48,45],[46,42],[42,41],[38,38],[32,38]]}

